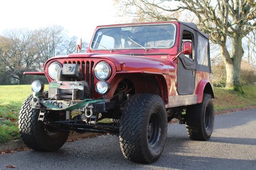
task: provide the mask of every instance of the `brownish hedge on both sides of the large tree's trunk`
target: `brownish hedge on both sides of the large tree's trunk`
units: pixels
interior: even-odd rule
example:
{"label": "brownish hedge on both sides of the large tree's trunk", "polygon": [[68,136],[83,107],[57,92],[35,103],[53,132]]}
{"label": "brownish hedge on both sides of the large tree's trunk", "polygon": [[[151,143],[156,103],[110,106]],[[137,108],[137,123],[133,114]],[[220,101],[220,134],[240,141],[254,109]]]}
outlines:
{"label": "brownish hedge on both sides of the large tree's trunk", "polygon": [[[223,62],[218,65],[212,66],[214,72],[214,86],[226,86],[226,68]],[[246,61],[241,63],[241,84],[249,85],[256,82],[256,69]]]}

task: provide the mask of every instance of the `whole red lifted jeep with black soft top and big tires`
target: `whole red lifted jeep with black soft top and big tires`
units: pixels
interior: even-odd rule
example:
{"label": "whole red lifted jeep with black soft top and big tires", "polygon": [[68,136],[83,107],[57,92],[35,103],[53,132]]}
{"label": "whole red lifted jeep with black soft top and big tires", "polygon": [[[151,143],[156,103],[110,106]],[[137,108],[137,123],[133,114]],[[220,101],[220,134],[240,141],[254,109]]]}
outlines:
{"label": "whole red lifted jeep with black soft top and big tires", "polygon": [[125,158],[143,163],[160,157],[173,118],[186,124],[190,139],[209,139],[208,37],[184,22],[97,27],[87,53],[53,57],[44,71],[25,72],[46,76],[49,90],[32,83],[33,95],[19,113],[22,139],[31,149],[55,151],[70,130],[108,132],[119,136]]}

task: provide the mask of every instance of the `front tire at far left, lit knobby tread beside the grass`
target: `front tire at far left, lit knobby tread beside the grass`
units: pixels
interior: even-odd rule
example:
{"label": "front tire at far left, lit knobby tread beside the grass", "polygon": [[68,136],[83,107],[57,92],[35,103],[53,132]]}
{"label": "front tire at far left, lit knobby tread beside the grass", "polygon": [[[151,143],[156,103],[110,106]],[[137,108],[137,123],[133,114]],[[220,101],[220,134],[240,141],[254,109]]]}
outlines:
{"label": "front tire at far left, lit knobby tread beside the grass", "polygon": [[18,128],[24,143],[37,151],[56,151],[66,142],[69,131],[60,131],[38,121],[39,110],[32,109],[30,95],[19,112]]}

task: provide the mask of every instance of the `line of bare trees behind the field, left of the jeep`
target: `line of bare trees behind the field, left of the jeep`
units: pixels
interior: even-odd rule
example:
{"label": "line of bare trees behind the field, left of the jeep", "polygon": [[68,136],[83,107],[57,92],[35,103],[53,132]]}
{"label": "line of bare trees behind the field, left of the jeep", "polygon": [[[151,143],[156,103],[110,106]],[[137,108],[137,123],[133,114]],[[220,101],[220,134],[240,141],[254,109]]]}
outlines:
{"label": "line of bare trees behind the field, left of the jeep", "polygon": [[[0,84],[10,84],[10,77],[18,80],[15,83],[29,83],[31,76],[24,75],[24,71],[41,70],[42,63],[51,57],[74,53],[76,39],[68,37],[60,26],[5,30],[0,35]],[[83,42],[82,46],[82,52],[86,52],[88,43]]]}

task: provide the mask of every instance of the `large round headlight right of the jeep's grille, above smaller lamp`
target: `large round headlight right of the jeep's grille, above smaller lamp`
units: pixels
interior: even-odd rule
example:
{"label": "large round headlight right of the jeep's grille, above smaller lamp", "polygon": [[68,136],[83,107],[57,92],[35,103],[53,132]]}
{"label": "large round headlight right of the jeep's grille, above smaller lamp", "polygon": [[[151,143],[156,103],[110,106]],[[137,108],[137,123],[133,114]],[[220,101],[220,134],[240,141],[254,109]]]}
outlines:
{"label": "large round headlight right of the jeep's grille, above smaller lamp", "polygon": [[94,74],[99,80],[106,80],[111,74],[111,67],[108,63],[100,62],[94,68]]}

